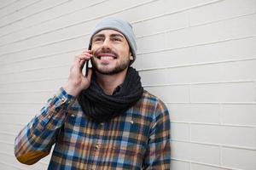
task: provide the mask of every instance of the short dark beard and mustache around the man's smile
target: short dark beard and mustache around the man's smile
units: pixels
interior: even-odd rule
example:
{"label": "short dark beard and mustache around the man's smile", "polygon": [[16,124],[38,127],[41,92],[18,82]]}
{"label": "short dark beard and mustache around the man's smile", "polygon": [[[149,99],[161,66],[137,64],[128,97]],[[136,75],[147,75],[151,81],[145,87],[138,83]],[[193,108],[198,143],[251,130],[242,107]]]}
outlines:
{"label": "short dark beard and mustache around the man's smile", "polygon": [[[113,52],[112,52],[113,53]],[[115,54],[115,53],[113,53]],[[115,54],[116,59],[119,59],[119,55]],[[99,64],[96,63],[96,59],[93,58],[91,59],[91,65],[93,69],[102,75],[114,75],[118,74],[119,72],[125,71],[130,66],[130,59],[127,54],[127,56],[124,56],[124,59],[120,59],[119,62],[113,67],[113,68],[108,68],[108,65],[106,66],[100,66]]]}

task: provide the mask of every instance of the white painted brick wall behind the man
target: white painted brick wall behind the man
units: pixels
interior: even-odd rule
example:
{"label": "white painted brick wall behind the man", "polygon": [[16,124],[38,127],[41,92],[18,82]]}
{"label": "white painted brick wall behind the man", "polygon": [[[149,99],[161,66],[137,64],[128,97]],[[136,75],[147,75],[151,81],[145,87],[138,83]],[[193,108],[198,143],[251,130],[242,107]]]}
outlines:
{"label": "white painted brick wall behind the man", "polygon": [[[106,8],[108,7],[108,8]],[[172,119],[172,169],[256,169],[256,0],[1,0],[0,169],[104,16],[136,31],[134,66]]]}

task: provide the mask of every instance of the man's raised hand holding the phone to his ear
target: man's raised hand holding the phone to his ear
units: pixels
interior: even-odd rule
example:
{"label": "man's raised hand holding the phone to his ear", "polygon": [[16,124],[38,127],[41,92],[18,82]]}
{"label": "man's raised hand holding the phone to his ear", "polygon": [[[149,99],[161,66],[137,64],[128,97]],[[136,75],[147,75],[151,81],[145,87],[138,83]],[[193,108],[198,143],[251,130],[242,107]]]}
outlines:
{"label": "man's raised hand holding the phone to his ear", "polygon": [[88,76],[85,77],[82,69],[84,63],[92,57],[91,53],[91,50],[87,50],[75,57],[70,69],[67,85],[63,87],[67,94],[76,97],[83,89],[89,88],[92,71],[89,69]]}

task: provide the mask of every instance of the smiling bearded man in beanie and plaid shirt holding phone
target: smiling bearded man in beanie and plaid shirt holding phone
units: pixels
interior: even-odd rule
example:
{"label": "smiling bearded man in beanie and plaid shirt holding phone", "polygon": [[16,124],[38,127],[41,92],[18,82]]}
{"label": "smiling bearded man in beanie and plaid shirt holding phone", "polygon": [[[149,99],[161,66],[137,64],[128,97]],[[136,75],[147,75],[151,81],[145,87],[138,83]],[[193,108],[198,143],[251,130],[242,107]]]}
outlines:
{"label": "smiling bearded man in beanie and plaid shirt holding phone", "polygon": [[143,90],[131,67],[136,51],[128,22],[100,21],[67,85],[16,137],[17,159],[33,164],[55,144],[48,169],[170,169],[169,113]]}

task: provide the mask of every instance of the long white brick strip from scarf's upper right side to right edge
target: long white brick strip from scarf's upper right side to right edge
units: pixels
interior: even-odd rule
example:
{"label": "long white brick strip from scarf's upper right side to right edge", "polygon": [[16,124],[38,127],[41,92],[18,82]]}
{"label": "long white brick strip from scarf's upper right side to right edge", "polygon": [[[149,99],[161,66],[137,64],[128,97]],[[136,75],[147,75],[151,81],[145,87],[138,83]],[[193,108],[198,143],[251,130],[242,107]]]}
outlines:
{"label": "long white brick strip from scarf's upper right side to right edge", "polygon": [[[145,62],[147,62],[145,60]],[[209,65],[188,65],[140,71],[144,84],[228,82],[256,78],[256,60]],[[152,78],[154,77],[154,82]],[[252,89],[252,88],[251,88]],[[253,95],[253,94],[252,94]]]}

